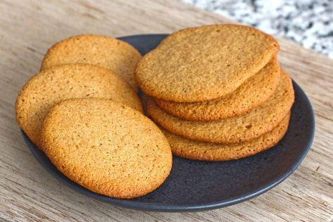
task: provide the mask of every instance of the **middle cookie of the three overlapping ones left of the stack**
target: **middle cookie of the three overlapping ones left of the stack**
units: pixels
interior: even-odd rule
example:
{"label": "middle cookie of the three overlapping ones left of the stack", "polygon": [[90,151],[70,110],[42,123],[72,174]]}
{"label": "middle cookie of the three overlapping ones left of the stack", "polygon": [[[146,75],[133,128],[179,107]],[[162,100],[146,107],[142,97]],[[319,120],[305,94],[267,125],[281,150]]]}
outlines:
{"label": "middle cookie of the three overlapping ones left of the stack", "polygon": [[47,111],[65,99],[82,97],[107,98],[142,111],[137,94],[118,75],[99,66],[71,64],[43,70],[25,84],[16,100],[16,120],[39,147]]}

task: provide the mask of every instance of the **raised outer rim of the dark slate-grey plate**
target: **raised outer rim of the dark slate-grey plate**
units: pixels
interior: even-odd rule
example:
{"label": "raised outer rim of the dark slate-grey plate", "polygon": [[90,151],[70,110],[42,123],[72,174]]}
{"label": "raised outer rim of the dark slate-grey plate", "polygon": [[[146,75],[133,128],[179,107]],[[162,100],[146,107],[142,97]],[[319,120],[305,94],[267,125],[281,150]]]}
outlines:
{"label": "raised outer rim of the dark slate-grey plate", "polygon": [[[143,34],[143,35],[127,35],[124,37],[118,37],[118,39],[125,40],[130,38],[137,38],[137,37],[166,37],[168,34]],[[82,195],[92,197],[94,199],[97,199],[99,201],[107,202],[109,204],[114,204],[115,206],[120,206],[127,209],[134,209],[134,210],[140,210],[140,211],[161,211],[161,212],[189,212],[189,211],[207,211],[211,209],[218,209],[225,206],[231,206],[234,204],[238,204],[240,202],[244,202],[248,199],[252,199],[253,197],[257,197],[258,195],[263,194],[264,192],[267,192],[268,190],[272,189],[272,187],[275,187],[279,185],[279,183],[282,183],[285,179],[289,177],[296,169],[299,167],[303,159],[308,154],[311,145],[313,144],[314,136],[315,136],[315,115],[313,112],[313,107],[310,103],[310,100],[306,96],[305,92],[301,89],[301,87],[292,80],[294,88],[297,88],[299,93],[301,94],[302,100],[305,102],[306,106],[308,106],[308,112],[310,115],[310,122],[311,128],[310,128],[310,137],[308,138],[308,142],[306,143],[305,149],[303,149],[303,152],[301,156],[299,156],[299,159],[294,161],[291,168],[288,169],[283,175],[280,175],[275,180],[272,180],[270,183],[258,187],[256,190],[253,190],[249,192],[246,195],[243,195],[242,197],[234,197],[227,200],[217,201],[217,202],[211,202],[211,203],[205,203],[205,204],[149,204],[149,203],[142,203],[142,202],[133,202],[131,199],[116,199],[113,197],[107,197],[104,195],[96,194],[92,191],[87,190],[86,188],[77,185],[75,182],[70,180],[69,178],[66,178],[65,175],[60,176],[57,174],[57,172],[53,171],[53,169],[49,168],[45,161],[43,160],[42,155],[45,156],[44,153],[42,155],[36,146],[30,141],[30,139],[25,135],[25,132],[23,132],[22,129],[20,129],[23,138],[25,140],[25,143],[27,144],[27,147],[29,147],[30,152],[32,153],[32,156],[34,156],[34,159],[44,168],[44,170],[48,173],[50,173],[54,178],[56,178],[61,183],[67,185],[72,190],[75,190],[75,192],[79,192]],[[47,157],[46,157],[47,158]],[[49,160],[48,160],[49,161]],[[51,163],[51,161],[49,161]],[[60,172],[60,171],[59,171]],[[78,188],[79,187],[79,188]]]}

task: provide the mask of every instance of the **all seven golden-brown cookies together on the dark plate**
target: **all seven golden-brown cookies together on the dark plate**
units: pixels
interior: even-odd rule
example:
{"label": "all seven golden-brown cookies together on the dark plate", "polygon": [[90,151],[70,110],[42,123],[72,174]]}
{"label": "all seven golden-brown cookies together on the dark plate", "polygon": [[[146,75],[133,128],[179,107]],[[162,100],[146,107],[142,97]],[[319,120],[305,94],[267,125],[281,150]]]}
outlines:
{"label": "all seven golden-brown cookies together on the dark plate", "polygon": [[[171,152],[225,161],[282,139],[294,90],[278,51],[275,39],[241,25],[180,30],[144,57],[111,37],[70,37],[20,91],[16,119],[70,180],[139,197],[168,177]],[[139,87],[159,127],[144,116]]]}

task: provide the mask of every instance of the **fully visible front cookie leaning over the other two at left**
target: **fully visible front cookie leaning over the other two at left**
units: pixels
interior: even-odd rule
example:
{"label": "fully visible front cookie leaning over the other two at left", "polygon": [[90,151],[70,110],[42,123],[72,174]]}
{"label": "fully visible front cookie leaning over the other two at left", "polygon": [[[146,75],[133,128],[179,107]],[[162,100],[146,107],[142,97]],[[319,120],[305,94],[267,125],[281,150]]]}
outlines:
{"label": "fully visible front cookie leaning over the other two at left", "polygon": [[42,147],[61,173],[92,192],[134,198],[168,177],[172,154],[142,113],[108,99],[70,99],[47,113]]}

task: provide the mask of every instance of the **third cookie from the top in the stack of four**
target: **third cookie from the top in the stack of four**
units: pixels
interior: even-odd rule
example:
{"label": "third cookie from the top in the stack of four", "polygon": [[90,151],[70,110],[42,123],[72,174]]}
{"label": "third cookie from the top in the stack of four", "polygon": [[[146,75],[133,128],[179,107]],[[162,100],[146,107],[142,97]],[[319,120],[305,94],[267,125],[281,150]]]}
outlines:
{"label": "third cookie from the top in the stack of four", "polygon": [[294,89],[289,75],[282,71],[275,94],[263,105],[251,109],[243,116],[220,121],[186,121],[163,111],[149,98],[146,110],[158,125],[191,140],[215,143],[234,143],[253,140],[270,132],[287,115],[294,102]]}

